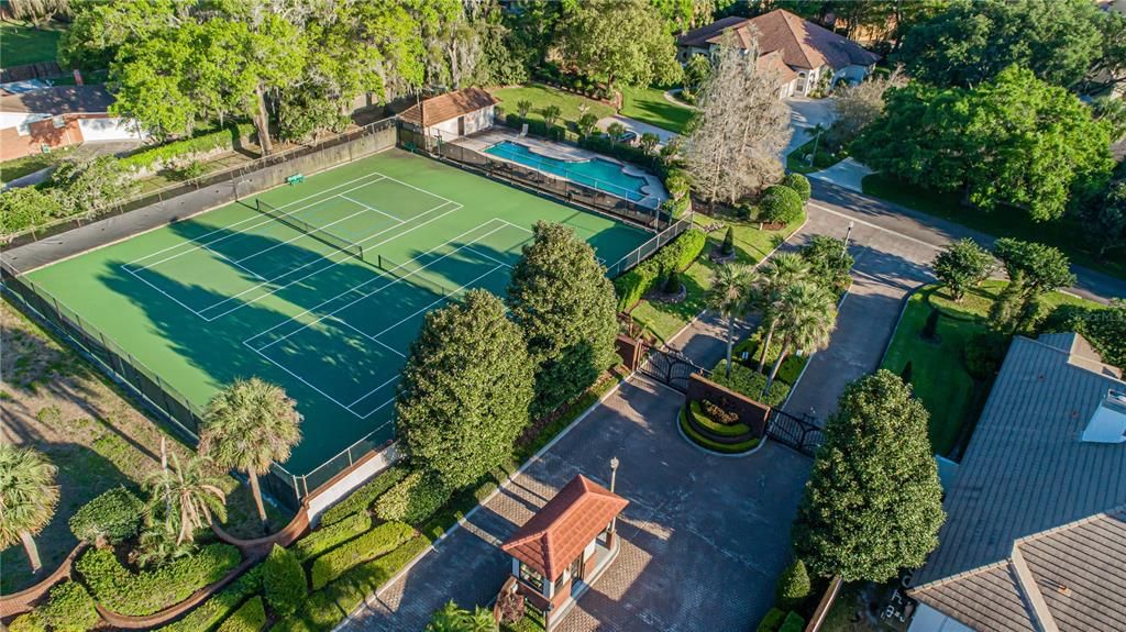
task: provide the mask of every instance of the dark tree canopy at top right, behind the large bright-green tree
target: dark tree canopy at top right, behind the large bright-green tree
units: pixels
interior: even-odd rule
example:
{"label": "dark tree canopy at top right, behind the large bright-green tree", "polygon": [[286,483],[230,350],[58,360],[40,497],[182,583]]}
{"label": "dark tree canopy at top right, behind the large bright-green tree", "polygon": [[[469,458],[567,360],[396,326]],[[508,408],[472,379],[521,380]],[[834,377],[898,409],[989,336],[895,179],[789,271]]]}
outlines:
{"label": "dark tree canopy at top right, behind the large bright-green tree", "polygon": [[974,87],[1016,64],[1071,88],[1106,63],[1111,19],[1089,0],[957,0],[906,34],[900,58],[939,87]]}

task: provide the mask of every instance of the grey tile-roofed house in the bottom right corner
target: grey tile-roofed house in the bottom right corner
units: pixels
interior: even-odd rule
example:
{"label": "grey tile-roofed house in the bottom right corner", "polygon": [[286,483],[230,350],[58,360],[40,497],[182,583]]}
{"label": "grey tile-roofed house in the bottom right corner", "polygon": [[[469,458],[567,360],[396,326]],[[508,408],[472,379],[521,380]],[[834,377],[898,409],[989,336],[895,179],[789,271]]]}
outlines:
{"label": "grey tile-roofed house in the bottom right corner", "polygon": [[1126,630],[1126,382],[1074,333],[1017,336],[914,575],[910,632]]}

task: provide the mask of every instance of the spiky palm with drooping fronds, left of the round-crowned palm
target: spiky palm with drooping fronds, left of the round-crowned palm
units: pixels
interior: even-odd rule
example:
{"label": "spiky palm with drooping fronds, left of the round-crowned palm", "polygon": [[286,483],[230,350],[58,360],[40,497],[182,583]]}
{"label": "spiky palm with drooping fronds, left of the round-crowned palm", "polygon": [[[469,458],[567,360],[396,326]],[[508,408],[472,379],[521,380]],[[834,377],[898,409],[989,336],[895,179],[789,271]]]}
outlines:
{"label": "spiky palm with drooping fronds, left of the round-crowned palm", "polygon": [[162,515],[164,525],[176,530],[176,543],[190,542],[197,529],[211,526],[215,518],[226,520],[226,493],[222,478],[206,457],[194,457],[180,464],[171,454],[170,468],[153,472],[144,484],[151,499],[150,516]]}

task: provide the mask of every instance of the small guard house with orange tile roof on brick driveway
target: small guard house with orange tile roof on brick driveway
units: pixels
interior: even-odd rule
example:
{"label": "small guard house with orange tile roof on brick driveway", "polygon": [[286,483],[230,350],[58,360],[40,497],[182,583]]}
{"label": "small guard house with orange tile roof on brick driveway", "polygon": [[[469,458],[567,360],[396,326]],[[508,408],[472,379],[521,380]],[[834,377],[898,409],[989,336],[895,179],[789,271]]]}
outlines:
{"label": "small guard house with orange tile roof on brick driveway", "polygon": [[628,504],[579,475],[501,545],[516,592],[544,614],[548,632],[617,557],[615,523]]}

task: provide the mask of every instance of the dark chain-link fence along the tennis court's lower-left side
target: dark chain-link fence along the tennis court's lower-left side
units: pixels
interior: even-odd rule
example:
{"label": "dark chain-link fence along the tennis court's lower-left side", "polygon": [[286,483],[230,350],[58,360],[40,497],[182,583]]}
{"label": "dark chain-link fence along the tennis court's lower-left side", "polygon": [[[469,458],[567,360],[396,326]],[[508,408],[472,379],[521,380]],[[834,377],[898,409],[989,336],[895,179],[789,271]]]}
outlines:
{"label": "dark chain-link fence along the tennis court's lower-left side", "polygon": [[[203,410],[187,397],[160,379],[157,371],[133,358],[111,337],[83,320],[78,312],[29,279],[0,265],[0,290],[7,291],[26,314],[68,341],[83,358],[106,372],[115,382],[168,423],[184,440],[195,445],[199,441]],[[292,509],[301,505],[305,489],[314,489],[277,463],[260,481],[269,495]]]}

